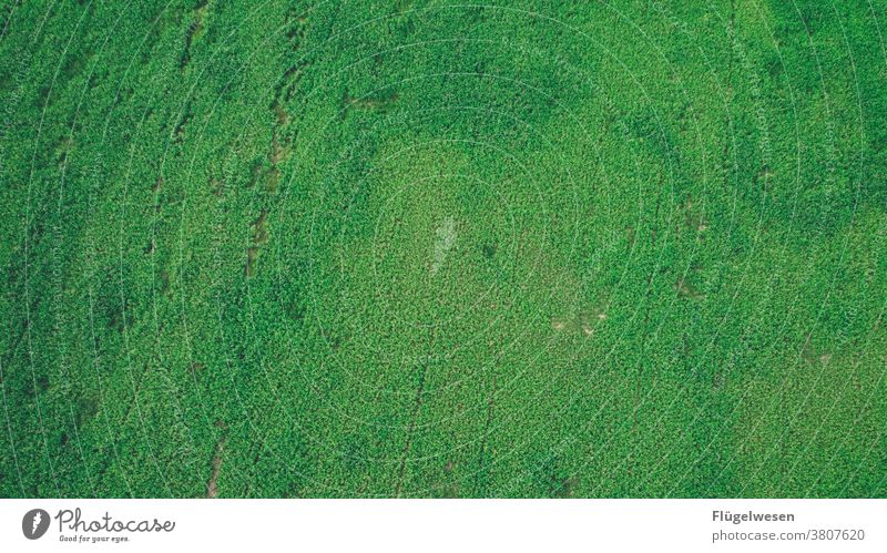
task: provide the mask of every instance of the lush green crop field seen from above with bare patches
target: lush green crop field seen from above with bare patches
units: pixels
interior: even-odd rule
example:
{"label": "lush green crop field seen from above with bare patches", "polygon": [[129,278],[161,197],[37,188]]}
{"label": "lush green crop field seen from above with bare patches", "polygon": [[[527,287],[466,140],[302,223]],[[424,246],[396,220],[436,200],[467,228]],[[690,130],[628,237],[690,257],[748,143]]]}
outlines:
{"label": "lush green crop field seen from above with bare patches", "polygon": [[887,496],[885,0],[4,0],[0,496]]}

